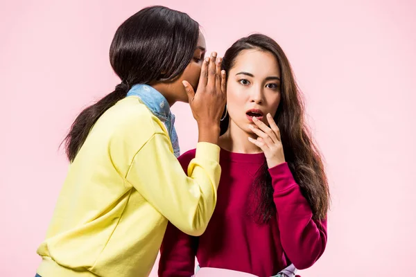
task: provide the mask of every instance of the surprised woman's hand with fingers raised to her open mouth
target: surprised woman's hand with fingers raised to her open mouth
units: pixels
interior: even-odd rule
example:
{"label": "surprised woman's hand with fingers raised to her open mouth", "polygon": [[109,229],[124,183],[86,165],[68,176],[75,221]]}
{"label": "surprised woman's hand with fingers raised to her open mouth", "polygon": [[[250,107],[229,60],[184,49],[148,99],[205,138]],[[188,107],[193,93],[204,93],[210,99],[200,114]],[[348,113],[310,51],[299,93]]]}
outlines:
{"label": "surprised woman's hand with fingers raised to her open mouth", "polygon": [[249,137],[248,140],[263,150],[268,168],[273,168],[284,163],[286,160],[284,159],[279,127],[277,127],[275,120],[273,120],[270,114],[267,114],[267,120],[270,127],[261,122],[258,118],[253,117],[253,122],[256,126],[250,124],[249,127],[258,137],[257,139]]}

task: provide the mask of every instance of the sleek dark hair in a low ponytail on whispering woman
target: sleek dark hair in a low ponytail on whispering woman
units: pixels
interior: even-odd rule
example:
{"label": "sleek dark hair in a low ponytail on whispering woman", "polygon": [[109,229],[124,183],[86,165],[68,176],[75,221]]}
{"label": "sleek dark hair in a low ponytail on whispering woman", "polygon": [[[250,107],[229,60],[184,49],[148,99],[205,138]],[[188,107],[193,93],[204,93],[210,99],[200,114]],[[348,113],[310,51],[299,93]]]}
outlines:
{"label": "sleek dark hair in a low ponytail on whispering woman", "polygon": [[144,8],[125,20],[110,46],[110,63],[121,84],[73,122],[62,141],[69,161],[76,158],[98,118],[125,98],[132,85],[177,78],[191,62],[198,35],[198,22],[163,6]]}

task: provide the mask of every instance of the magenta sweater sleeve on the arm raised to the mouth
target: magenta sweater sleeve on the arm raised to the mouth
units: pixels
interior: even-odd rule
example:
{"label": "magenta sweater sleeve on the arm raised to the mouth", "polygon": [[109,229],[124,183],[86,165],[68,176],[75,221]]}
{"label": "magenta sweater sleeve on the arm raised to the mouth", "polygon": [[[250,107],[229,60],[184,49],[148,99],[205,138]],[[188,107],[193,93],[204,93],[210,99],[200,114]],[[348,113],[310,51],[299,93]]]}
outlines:
{"label": "magenta sweater sleeve on the arm raised to the mouth", "polygon": [[297,269],[311,267],[327,245],[327,220],[313,220],[287,163],[269,169],[274,188],[281,245]]}

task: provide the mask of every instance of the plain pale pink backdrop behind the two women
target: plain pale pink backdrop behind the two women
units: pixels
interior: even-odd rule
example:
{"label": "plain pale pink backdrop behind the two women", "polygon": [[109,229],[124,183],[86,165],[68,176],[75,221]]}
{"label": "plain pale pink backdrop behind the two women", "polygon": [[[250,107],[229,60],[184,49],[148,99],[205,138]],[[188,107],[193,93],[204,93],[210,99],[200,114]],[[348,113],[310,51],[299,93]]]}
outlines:
{"label": "plain pale pink backdrop behind the two women", "polygon": [[[157,3],[199,21],[209,51],[222,55],[239,37],[263,32],[291,60],[333,197],[327,251],[302,276],[415,276],[416,2]],[[60,141],[80,109],[119,83],[108,61],[114,31],[151,4],[2,1],[2,276],[35,275],[67,170]],[[189,108],[173,111],[182,150],[193,148]]]}

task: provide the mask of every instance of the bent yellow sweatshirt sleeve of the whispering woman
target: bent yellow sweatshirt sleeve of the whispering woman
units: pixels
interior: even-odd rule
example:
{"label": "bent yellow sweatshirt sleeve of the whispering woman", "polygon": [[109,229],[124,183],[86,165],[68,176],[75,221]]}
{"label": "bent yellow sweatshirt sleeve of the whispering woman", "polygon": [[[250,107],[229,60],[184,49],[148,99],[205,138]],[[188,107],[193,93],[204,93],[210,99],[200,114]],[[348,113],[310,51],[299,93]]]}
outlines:
{"label": "bent yellow sweatshirt sleeve of the whispering woman", "polygon": [[189,235],[201,235],[216,205],[220,148],[198,143],[188,176],[166,134],[155,133],[136,153],[126,179],[159,213]]}

